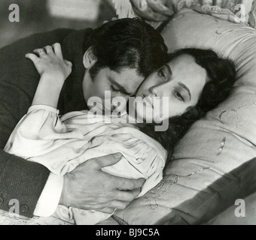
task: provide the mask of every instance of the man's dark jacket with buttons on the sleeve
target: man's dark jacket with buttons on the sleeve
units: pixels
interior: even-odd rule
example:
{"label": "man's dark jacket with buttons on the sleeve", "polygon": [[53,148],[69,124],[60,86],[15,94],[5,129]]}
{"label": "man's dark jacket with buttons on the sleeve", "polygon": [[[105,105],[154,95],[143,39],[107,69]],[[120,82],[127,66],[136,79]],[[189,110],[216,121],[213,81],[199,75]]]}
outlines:
{"label": "man's dark jacket with buttons on the sleeve", "polygon": [[61,43],[63,56],[73,63],[73,68],[62,88],[59,111],[63,114],[84,110],[84,40],[90,31],[57,29],[26,37],[0,49],[0,208],[5,211],[11,207],[10,200],[17,199],[20,214],[32,217],[50,174],[44,166],[2,150],[12,130],[32,104],[40,79],[35,66],[25,55],[33,49]]}

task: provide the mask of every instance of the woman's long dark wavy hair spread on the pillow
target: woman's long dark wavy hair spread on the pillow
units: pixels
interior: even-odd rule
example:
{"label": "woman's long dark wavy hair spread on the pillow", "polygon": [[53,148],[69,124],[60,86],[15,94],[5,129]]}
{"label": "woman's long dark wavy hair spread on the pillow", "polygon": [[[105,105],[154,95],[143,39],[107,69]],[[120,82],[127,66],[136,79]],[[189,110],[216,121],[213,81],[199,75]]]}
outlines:
{"label": "woman's long dark wavy hair spread on the pillow", "polygon": [[178,141],[187,133],[195,121],[202,118],[209,110],[221,104],[229,95],[236,82],[236,68],[227,58],[220,58],[211,49],[179,49],[169,55],[169,62],[179,55],[191,55],[198,65],[207,72],[206,85],[195,107],[189,107],[183,115],[169,118],[169,128],[165,132],[154,131],[154,124],[142,125],[142,132],[160,142],[168,152],[171,160],[172,153]]}

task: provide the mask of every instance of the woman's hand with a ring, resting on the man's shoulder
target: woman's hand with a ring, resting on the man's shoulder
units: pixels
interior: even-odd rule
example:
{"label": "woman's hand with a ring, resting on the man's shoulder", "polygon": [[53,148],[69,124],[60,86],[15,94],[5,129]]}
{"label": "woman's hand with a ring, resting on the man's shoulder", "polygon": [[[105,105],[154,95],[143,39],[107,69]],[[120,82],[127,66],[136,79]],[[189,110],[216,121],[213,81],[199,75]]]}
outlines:
{"label": "woman's hand with a ring, resting on the man's shoulder", "polygon": [[33,53],[26,54],[26,58],[32,60],[41,79],[61,81],[63,83],[72,73],[72,63],[63,59],[62,49],[59,43],[53,46],[45,46],[35,49]]}

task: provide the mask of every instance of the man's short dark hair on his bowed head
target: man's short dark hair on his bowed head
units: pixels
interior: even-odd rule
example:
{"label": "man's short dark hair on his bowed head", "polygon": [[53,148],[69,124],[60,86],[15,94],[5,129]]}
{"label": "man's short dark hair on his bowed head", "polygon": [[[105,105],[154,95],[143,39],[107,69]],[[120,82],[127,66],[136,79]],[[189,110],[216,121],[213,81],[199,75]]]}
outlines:
{"label": "man's short dark hair on his bowed head", "polygon": [[142,77],[148,77],[168,58],[160,33],[137,18],[115,20],[96,28],[85,43],[84,52],[90,46],[97,58],[90,68],[92,78],[102,68],[112,71],[131,68]]}

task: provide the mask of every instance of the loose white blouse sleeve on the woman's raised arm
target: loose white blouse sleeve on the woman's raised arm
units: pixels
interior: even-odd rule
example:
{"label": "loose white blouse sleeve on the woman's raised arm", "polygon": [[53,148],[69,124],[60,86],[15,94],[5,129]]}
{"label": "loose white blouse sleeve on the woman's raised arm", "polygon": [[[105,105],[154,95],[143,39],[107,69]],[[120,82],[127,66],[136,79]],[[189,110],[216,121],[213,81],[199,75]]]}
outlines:
{"label": "loose white blouse sleeve on the woman's raised arm", "polygon": [[56,175],[65,175],[78,166],[69,162],[90,145],[76,127],[68,127],[53,107],[33,106],[11,134],[5,151],[41,163]]}

